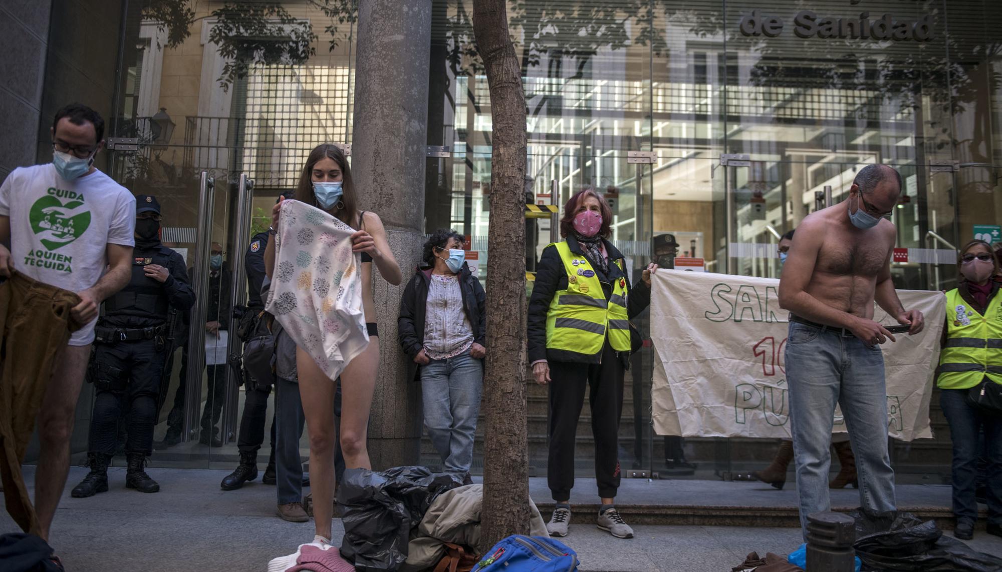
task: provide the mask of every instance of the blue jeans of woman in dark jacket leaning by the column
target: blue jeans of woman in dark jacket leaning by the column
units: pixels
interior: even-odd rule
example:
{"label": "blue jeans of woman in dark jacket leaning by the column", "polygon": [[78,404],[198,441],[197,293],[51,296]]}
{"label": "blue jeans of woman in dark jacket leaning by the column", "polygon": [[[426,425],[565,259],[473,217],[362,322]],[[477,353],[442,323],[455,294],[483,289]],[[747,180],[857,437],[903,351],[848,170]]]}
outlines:
{"label": "blue jeans of woman in dark jacket leaning by the column", "polygon": [[484,363],[470,352],[432,360],[419,368],[425,427],[443,470],[466,473],[473,463],[473,436],[480,414]]}

